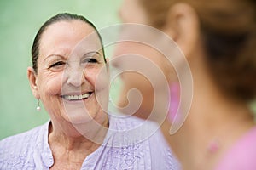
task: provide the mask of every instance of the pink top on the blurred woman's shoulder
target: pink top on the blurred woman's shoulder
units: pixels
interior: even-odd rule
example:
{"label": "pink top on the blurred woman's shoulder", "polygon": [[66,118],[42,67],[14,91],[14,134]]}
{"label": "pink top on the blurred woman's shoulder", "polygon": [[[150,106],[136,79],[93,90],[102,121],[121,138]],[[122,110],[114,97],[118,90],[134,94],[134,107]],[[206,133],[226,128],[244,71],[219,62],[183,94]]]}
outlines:
{"label": "pink top on the blurred woman's shoulder", "polygon": [[228,150],[215,170],[256,170],[256,127]]}

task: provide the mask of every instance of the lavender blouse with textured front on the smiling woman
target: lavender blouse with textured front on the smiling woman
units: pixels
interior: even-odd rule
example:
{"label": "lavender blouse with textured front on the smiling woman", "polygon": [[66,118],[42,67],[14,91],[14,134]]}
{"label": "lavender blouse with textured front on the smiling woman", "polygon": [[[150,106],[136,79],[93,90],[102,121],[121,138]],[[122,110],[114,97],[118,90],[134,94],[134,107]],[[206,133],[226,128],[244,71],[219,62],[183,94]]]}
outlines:
{"label": "lavender blouse with textured front on the smiling woman", "polygon": [[[54,164],[48,144],[49,122],[0,141],[1,170],[44,170]],[[180,169],[153,122],[109,116],[103,144],[83,162],[86,170]]]}

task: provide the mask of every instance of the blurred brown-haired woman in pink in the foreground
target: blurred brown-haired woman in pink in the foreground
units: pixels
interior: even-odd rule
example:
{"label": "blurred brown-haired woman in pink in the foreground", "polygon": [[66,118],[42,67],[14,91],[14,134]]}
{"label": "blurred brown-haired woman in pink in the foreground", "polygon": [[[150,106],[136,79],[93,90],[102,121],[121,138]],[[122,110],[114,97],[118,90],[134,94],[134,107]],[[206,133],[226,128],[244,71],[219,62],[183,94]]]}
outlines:
{"label": "blurred brown-haired woman in pink in the foreground", "polygon": [[[124,23],[160,29],[177,43],[189,63],[194,82],[189,115],[173,135],[169,133],[175,123],[172,115],[185,114],[183,108],[173,113],[177,105],[171,107],[160,124],[183,169],[256,169],[256,127],[249,107],[256,95],[255,8],[252,0],[124,0],[120,8]],[[152,41],[163,42],[158,38]],[[163,71],[170,89],[176,89],[171,90],[177,95],[171,104],[182,103],[178,78],[165,56],[142,46],[137,42],[120,43],[115,57],[138,54],[151,60]],[[125,63],[127,67],[129,62]],[[185,65],[181,59],[177,63],[179,68]],[[119,59],[113,65],[121,68],[124,63]],[[125,72],[122,80],[119,107],[132,105],[126,95],[137,88],[143,100],[135,115],[147,118],[157,102],[152,84],[135,72]],[[132,93],[129,97],[132,99]]]}

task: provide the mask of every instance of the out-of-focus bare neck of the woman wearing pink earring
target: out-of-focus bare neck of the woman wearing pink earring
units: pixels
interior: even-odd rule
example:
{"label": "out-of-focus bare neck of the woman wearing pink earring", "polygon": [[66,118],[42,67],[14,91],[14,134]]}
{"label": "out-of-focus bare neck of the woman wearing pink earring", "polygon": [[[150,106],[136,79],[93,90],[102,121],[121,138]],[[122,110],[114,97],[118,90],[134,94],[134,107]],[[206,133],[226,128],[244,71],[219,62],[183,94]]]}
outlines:
{"label": "out-of-focus bare neck of the woman wearing pink earring", "polygon": [[[207,82],[205,82],[207,83]],[[253,127],[247,105],[224,98],[214,86],[196,86],[189,116],[177,133],[165,136],[183,169],[212,169],[224,152]],[[169,132],[165,122],[163,132]]]}

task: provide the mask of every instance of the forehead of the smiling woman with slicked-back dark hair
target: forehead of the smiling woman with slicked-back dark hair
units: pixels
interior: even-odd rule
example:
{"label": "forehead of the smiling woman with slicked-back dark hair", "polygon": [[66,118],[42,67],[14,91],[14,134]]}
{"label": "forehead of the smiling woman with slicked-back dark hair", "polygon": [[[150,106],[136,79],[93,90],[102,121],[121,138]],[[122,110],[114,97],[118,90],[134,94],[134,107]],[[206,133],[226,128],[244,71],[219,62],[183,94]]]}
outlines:
{"label": "forehead of the smiling woman with slicked-back dark hair", "polygon": [[58,21],[48,26],[42,34],[39,54],[47,56],[63,51],[69,54],[80,42],[89,50],[101,46],[100,38],[90,24],[81,20]]}

